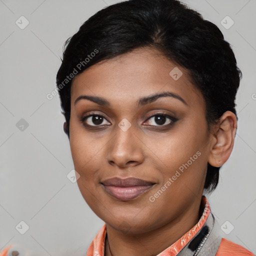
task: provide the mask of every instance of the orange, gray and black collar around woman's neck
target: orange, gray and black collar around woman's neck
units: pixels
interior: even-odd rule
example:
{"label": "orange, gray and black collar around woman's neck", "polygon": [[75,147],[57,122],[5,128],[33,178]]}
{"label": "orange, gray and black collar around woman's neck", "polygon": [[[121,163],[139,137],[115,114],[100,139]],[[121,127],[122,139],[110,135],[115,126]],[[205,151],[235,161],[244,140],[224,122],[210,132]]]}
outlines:
{"label": "orange, gray and black collar around woman's neck", "polygon": [[[214,216],[204,195],[201,197],[201,205],[204,210],[199,221],[177,241],[156,256],[215,255],[212,252],[214,248],[217,251],[220,238],[215,234],[216,231],[213,228]],[[86,256],[104,256],[105,237],[106,224],[104,223],[90,243]],[[210,251],[210,254],[207,254],[207,251]]]}

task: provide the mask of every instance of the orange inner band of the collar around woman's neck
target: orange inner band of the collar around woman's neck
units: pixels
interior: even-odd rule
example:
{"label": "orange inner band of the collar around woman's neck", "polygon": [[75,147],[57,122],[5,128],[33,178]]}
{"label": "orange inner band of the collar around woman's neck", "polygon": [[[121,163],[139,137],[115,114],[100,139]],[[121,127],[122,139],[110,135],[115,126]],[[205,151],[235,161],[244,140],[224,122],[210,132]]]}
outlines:
{"label": "orange inner band of the collar around woman's neck", "polygon": [[[204,207],[203,213],[199,219],[199,221],[182,237],[180,237],[177,241],[171,244],[168,248],[157,254],[156,256],[175,256],[177,255],[181,249],[195,236],[195,234],[202,228],[206,219],[210,214],[210,205],[207,198],[202,195],[201,203]],[[92,242],[90,243],[86,256],[104,256],[105,249],[105,237],[106,237],[106,224],[104,224]]]}

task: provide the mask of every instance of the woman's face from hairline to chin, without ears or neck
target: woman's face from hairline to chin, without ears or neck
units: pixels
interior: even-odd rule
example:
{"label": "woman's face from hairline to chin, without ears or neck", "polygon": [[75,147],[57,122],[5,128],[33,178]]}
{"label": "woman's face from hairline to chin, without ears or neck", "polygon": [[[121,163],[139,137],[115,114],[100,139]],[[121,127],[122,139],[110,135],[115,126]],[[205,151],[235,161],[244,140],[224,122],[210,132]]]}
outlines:
{"label": "woman's face from hairline to chin, without ears or neck", "polygon": [[139,48],[76,75],[69,132],[81,194],[115,229],[153,230],[195,211],[210,152],[205,102],[158,51]]}

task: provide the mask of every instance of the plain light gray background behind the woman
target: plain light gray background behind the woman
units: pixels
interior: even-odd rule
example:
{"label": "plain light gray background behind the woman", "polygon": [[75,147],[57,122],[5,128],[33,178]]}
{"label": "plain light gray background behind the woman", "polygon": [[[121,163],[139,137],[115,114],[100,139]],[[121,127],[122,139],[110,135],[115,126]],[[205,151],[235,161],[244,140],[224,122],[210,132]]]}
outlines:
{"label": "plain light gray background behind the woman", "polygon": [[[18,244],[31,255],[85,255],[103,224],[66,177],[73,163],[64,117],[58,95],[48,100],[46,94],[55,88],[65,39],[116,2],[0,0],[0,250]],[[220,28],[243,73],[234,149],[206,197],[218,223],[234,226],[222,236],[256,253],[256,1],[183,2]],[[21,15],[29,21],[24,29],[15,23]],[[229,29],[220,23],[226,15],[234,21]],[[28,123],[23,130],[21,118]],[[24,234],[22,222],[15,228],[22,220],[29,226]]]}

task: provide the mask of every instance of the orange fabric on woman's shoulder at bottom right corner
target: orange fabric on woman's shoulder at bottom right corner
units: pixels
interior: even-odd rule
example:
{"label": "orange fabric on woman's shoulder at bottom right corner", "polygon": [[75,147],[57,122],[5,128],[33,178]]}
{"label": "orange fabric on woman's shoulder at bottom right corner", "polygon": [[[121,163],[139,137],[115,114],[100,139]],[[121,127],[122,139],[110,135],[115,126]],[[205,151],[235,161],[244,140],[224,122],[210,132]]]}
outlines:
{"label": "orange fabric on woman's shoulder at bottom right corner", "polygon": [[221,242],[219,244],[217,253],[215,256],[227,256],[227,255],[232,255],[232,256],[254,256],[252,252],[249,250],[245,249],[241,245],[234,243],[232,241],[229,241],[222,237]]}

